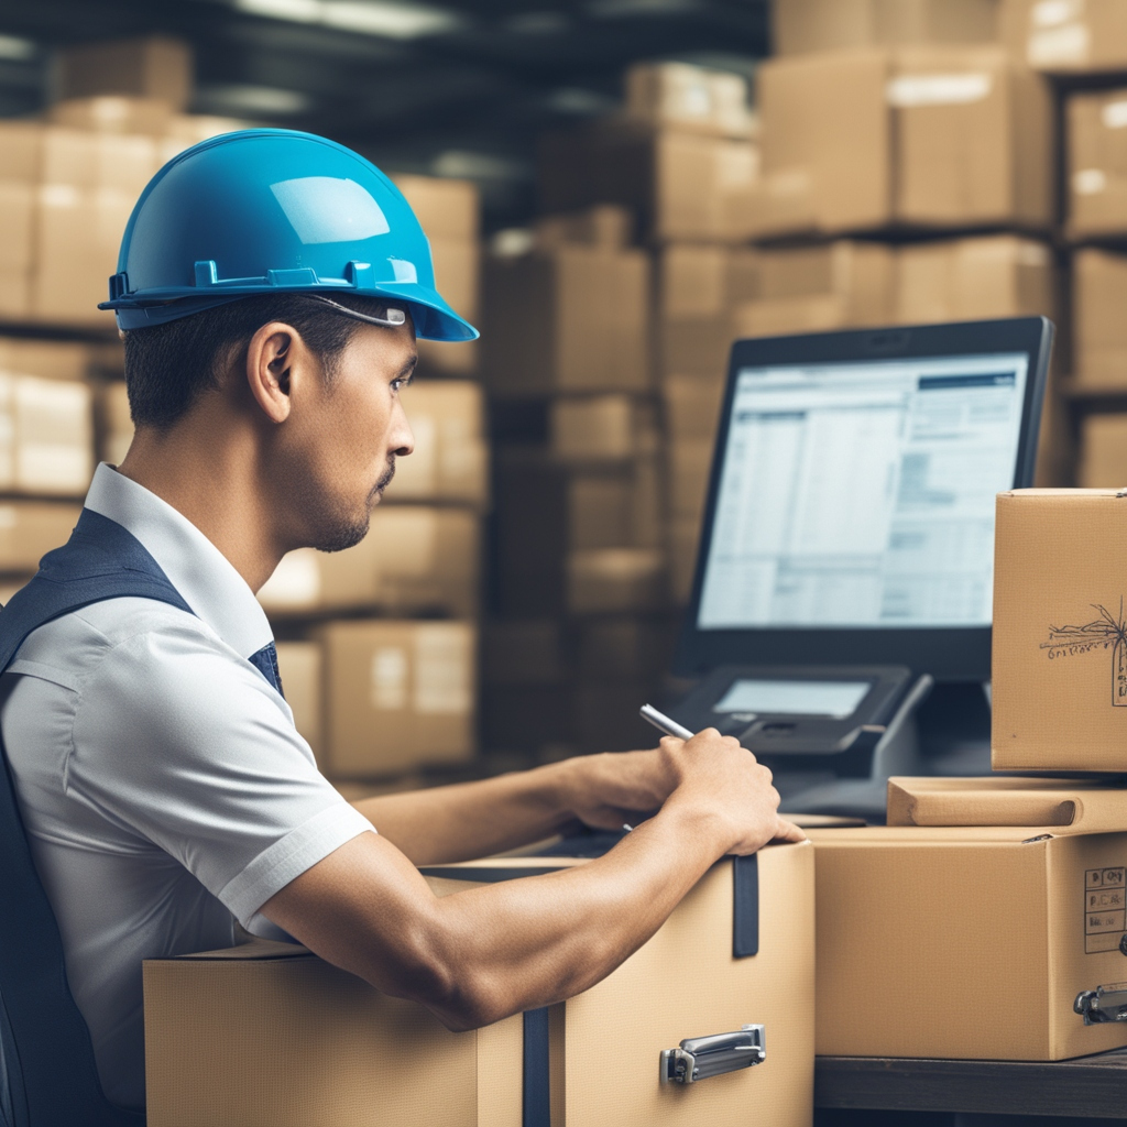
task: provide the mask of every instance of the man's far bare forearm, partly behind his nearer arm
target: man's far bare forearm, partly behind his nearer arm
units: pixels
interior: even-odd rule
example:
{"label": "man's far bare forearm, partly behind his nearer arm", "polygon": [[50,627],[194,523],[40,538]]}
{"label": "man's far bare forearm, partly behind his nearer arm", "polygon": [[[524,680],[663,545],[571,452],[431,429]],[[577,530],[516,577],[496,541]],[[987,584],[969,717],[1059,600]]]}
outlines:
{"label": "man's far bare forearm, partly behind his nearer arm", "polygon": [[550,764],[403,795],[356,808],[415,864],[469,861],[550,837],[571,819],[568,767]]}

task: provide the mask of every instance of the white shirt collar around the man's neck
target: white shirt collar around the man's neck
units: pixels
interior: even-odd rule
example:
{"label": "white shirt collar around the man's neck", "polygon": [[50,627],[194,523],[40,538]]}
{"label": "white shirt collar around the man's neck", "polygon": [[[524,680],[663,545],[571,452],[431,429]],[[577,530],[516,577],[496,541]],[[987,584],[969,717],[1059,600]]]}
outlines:
{"label": "white shirt collar around the man's neck", "polygon": [[266,613],[231,561],[181,513],[103,462],[86,507],[133,533],[196,616],[240,657],[274,640]]}

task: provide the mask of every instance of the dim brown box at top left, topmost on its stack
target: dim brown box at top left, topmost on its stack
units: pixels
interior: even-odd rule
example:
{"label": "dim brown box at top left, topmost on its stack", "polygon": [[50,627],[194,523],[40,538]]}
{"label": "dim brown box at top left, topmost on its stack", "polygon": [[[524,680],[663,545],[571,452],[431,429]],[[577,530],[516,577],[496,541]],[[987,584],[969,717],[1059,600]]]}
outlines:
{"label": "dim brown box at top left, topmost on its stack", "polygon": [[116,94],[185,109],[192,98],[192,47],[162,35],[81,43],[57,52],[52,77],[56,100]]}

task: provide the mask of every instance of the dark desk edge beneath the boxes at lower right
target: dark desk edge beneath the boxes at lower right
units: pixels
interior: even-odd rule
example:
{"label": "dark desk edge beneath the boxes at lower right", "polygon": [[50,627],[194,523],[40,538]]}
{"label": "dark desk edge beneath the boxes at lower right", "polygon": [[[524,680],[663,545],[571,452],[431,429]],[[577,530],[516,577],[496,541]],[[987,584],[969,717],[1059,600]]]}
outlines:
{"label": "dark desk edge beneath the boxes at lower right", "polygon": [[1045,1063],[818,1057],[814,1104],[1121,1119],[1127,1049]]}

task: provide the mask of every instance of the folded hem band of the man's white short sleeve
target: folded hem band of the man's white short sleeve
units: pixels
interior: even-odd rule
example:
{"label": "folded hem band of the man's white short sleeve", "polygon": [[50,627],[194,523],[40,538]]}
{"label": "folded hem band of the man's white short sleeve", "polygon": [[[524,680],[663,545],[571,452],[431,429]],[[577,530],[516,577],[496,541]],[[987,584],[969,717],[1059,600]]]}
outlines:
{"label": "folded hem band of the man's white short sleeve", "polygon": [[246,869],[228,881],[219,898],[243,928],[275,893],[295,880],[318,861],[375,827],[355,807],[341,801],[321,810],[308,822],[259,853]]}

